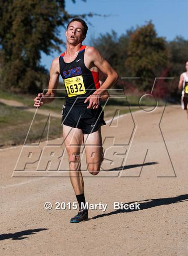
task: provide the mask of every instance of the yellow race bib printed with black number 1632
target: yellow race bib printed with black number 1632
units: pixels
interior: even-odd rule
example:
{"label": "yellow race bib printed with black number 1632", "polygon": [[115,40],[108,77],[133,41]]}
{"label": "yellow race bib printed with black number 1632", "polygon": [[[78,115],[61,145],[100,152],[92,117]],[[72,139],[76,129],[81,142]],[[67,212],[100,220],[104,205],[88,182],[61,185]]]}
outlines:
{"label": "yellow race bib printed with black number 1632", "polygon": [[68,97],[85,94],[85,86],[82,76],[74,76],[64,79],[64,85],[67,90]]}

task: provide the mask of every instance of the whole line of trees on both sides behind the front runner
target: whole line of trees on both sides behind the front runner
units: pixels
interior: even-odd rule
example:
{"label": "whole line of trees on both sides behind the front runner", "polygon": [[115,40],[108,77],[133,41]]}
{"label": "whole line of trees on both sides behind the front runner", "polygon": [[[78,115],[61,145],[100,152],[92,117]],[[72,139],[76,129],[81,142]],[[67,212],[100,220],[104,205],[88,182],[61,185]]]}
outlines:
{"label": "whole line of trees on both sides behind the front runner", "polygon": [[[73,17],[65,11],[64,0],[0,0],[0,89],[36,93],[46,88],[49,72],[40,63],[41,53],[60,52],[64,42],[59,28]],[[150,93],[155,77],[175,77],[157,80],[154,94],[177,97],[179,75],[188,60],[188,40],[177,36],[167,41],[157,35],[150,21],[121,36],[113,30],[100,34],[91,38],[91,45],[118,72],[115,88]],[[121,77],[140,79],[123,81]]]}

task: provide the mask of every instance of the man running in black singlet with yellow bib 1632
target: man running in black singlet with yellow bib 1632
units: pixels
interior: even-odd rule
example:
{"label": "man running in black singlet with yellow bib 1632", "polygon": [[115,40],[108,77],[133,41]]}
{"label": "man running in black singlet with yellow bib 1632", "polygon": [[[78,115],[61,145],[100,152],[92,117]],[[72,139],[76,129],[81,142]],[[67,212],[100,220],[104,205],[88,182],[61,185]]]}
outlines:
{"label": "man running in black singlet with yellow bib 1632", "polygon": [[[70,180],[79,204],[79,212],[70,220],[71,223],[88,219],[88,211],[81,207],[81,203],[85,204],[81,144],[83,141],[88,171],[97,175],[103,161],[100,127],[106,125],[100,100],[109,97],[107,90],[118,79],[117,73],[97,49],[82,45],[87,29],[85,21],[80,18],[68,23],[66,50],[52,61],[48,91],[34,99],[34,107],[37,108],[55,99],[59,76],[62,76],[66,88],[65,106],[62,108],[63,138],[68,152]],[[107,77],[101,87],[99,70]]]}

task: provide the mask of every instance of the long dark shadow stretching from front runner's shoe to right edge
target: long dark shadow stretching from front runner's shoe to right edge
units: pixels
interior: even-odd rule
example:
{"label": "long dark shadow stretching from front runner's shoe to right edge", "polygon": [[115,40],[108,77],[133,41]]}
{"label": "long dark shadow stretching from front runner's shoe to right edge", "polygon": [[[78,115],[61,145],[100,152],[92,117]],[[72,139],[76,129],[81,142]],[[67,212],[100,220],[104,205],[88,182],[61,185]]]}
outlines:
{"label": "long dark shadow stretching from front runner's shoe to right edge", "polygon": [[[103,213],[103,214],[94,216],[90,220],[94,220],[94,219],[98,219],[98,218],[102,218],[102,217],[110,216],[110,215],[114,215],[114,214],[119,214],[119,213],[128,213],[128,212],[132,212],[132,211],[142,211],[142,210],[145,210],[145,209],[149,209],[149,208],[157,207],[157,206],[161,206],[161,205],[168,205],[168,204],[172,204],[172,203],[176,203],[176,202],[188,201],[186,199],[188,199],[188,194],[180,195],[180,196],[177,196],[177,197],[174,197],[174,198],[157,198],[157,199],[141,200],[141,201],[137,201],[137,202],[142,202],[139,205],[140,210],[120,209],[120,210],[111,211],[109,213]],[[143,201],[145,201],[145,202],[143,202]],[[131,203],[134,204],[136,202],[128,202],[127,204],[131,204]],[[123,205],[125,205],[125,204],[126,203],[124,203]]]}

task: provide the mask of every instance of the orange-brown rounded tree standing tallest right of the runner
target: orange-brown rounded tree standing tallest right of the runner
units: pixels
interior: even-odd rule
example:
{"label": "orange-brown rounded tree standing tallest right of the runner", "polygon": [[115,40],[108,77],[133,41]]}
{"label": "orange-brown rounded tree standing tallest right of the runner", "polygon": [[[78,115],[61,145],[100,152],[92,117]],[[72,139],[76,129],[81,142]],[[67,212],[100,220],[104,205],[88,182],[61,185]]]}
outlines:
{"label": "orange-brown rounded tree standing tallest right of the runner", "polygon": [[137,81],[143,90],[151,89],[151,82],[159,76],[168,64],[169,52],[166,41],[158,37],[152,22],[137,27],[130,35],[128,58],[125,65],[133,77],[141,77]]}

